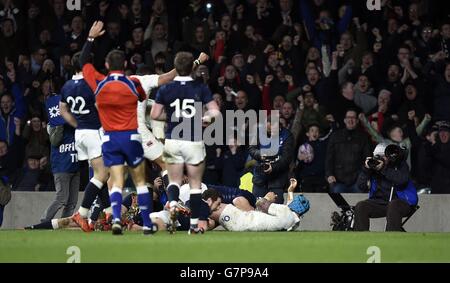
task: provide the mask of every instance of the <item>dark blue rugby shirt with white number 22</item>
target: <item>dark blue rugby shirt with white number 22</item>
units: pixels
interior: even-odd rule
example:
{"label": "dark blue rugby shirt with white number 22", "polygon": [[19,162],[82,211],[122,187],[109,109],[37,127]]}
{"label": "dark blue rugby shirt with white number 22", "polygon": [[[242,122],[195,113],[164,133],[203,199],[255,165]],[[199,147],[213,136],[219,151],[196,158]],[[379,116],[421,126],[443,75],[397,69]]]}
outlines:
{"label": "dark blue rugby shirt with white number 22", "polygon": [[61,101],[67,103],[77,120],[78,129],[100,129],[100,119],[95,107],[95,96],[81,76],[73,76],[61,89]]}

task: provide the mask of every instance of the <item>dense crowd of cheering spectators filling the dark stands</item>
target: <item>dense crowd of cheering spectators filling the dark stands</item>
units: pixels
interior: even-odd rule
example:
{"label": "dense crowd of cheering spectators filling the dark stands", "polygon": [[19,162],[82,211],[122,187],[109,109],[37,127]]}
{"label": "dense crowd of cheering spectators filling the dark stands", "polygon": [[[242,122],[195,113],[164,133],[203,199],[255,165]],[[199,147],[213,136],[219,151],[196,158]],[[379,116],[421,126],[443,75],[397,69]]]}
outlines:
{"label": "dense crowd of cheering spectators filling the dark stands", "polygon": [[[97,69],[114,48],[128,74],[161,74],[178,51],[205,52],[195,76],[224,113],[279,110],[304,191],[357,192],[363,161],[383,141],[407,148],[419,188],[450,193],[450,5],[381,2],[369,11],[360,0],[85,0],[69,11],[65,0],[0,0],[2,180],[52,190],[44,101],[102,20]],[[238,186],[251,170],[236,140],[207,153],[208,183]]]}

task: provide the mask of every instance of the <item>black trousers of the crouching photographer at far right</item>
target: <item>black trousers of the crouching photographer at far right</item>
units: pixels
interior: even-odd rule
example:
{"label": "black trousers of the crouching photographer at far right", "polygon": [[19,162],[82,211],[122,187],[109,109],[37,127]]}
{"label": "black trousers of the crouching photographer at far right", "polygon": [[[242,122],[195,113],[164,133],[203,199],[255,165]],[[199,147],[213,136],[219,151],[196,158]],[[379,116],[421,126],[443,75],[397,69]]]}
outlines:
{"label": "black trousers of the crouching photographer at far right", "polygon": [[412,207],[403,200],[395,199],[389,204],[368,199],[355,207],[355,231],[369,231],[370,218],[386,217],[386,231],[402,231],[402,218],[411,213]]}

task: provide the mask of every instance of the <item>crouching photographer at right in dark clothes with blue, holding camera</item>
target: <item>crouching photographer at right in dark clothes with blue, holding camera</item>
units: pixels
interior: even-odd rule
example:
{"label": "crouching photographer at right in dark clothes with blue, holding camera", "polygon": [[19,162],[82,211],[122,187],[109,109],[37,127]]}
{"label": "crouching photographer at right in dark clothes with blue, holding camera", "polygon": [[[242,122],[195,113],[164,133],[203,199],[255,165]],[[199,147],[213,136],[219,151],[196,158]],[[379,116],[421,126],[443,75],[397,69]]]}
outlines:
{"label": "crouching photographer at right in dark clothes with blue, holding camera", "polygon": [[406,154],[397,145],[381,143],[373,156],[366,159],[358,176],[360,190],[367,190],[370,184],[370,192],[368,200],[356,204],[354,228],[368,231],[370,218],[386,217],[386,231],[402,231],[402,218],[418,201],[416,188],[409,178]]}

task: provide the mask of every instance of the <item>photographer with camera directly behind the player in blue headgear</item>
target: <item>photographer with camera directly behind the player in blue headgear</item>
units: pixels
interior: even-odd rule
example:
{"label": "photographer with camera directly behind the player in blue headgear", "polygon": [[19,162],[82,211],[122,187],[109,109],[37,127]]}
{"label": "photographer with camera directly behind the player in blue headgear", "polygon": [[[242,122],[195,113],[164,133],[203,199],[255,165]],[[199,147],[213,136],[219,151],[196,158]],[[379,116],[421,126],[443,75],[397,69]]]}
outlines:
{"label": "photographer with camera directly behind the player in blue headgear", "polygon": [[276,203],[283,204],[283,188],[287,187],[289,164],[294,156],[294,138],[288,129],[281,127],[279,121],[272,124],[270,117],[266,127],[268,137],[275,129],[280,131],[279,149],[276,155],[265,156],[261,153],[264,146],[260,143],[250,146],[249,153],[257,161],[253,170],[253,194],[258,198],[264,197],[268,192],[273,192],[277,195]]}

